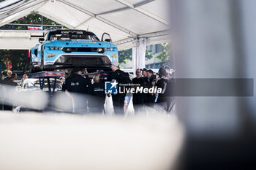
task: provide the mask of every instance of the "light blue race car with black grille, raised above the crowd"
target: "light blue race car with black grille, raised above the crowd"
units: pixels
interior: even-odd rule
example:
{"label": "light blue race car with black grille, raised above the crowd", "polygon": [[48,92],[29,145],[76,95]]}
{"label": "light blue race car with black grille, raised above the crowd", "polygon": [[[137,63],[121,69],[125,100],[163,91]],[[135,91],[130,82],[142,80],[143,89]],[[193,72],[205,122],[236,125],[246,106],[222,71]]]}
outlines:
{"label": "light blue race car with black grille, raised above the crowd", "polygon": [[50,30],[39,42],[30,50],[30,72],[75,66],[105,71],[110,70],[111,61],[118,61],[118,50],[107,33],[100,41],[90,31]]}

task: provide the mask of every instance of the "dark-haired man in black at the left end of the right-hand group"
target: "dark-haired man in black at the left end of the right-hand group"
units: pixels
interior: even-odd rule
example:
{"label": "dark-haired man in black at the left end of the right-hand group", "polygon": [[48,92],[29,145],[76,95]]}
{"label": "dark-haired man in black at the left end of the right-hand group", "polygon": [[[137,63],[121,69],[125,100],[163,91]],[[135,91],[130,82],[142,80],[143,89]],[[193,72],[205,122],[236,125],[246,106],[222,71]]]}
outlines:
{"label": "dark-haired man in black at the left end of the right-hand group", "polygon": [[[144,84],[144,79],[141,74],[140,69],[136,69],[136,77],[132,79],[133,84],[138,84],[139,86],[142,86]],[[134,88],[137,88],[136,85]],[[143,93],[133,93],[132,96],[132,102],[133,107],[135,109],[135,113],[142,112],[143,110]]]}

